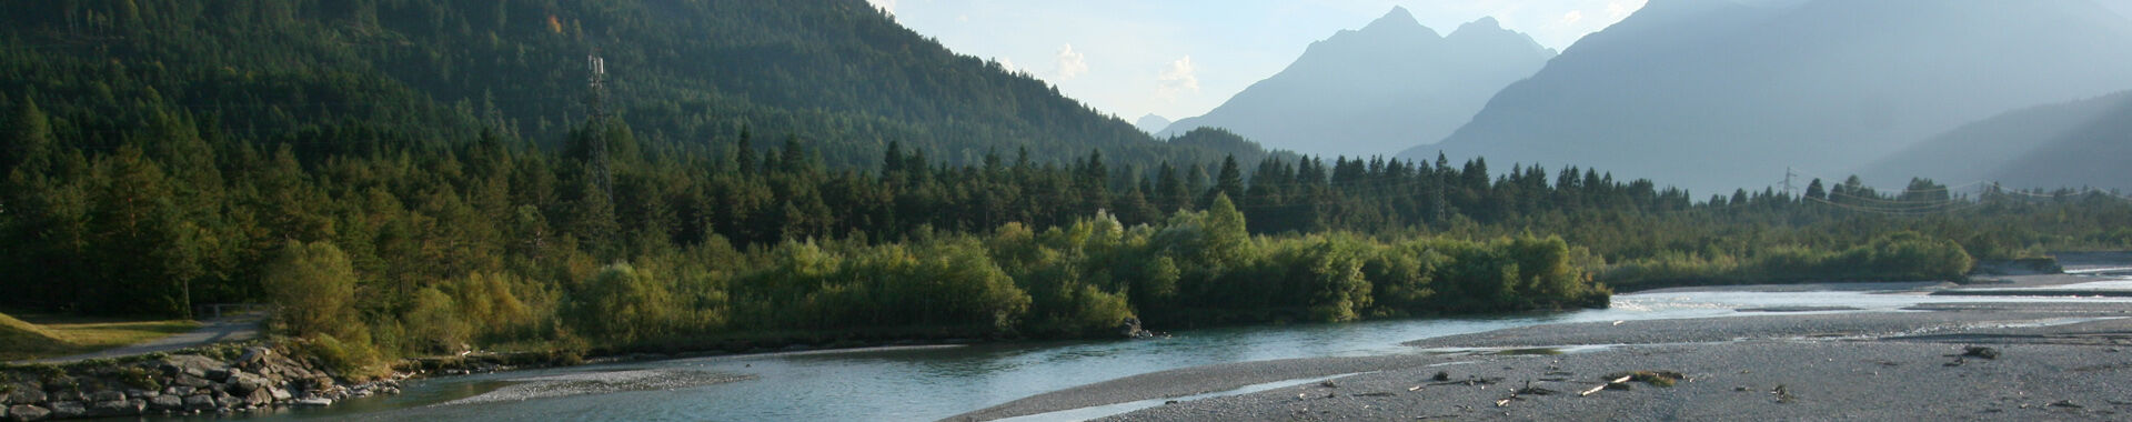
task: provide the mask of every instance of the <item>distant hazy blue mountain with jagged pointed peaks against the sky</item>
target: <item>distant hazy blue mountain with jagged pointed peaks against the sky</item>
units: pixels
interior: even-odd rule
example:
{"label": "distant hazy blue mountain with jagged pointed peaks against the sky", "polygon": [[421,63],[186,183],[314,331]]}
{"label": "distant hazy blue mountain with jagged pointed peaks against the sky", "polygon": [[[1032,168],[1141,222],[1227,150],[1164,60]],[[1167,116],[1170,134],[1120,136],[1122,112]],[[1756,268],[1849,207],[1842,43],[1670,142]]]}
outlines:
{"label": "distant hazy blue mountain with jagged pointed peaks against the sky", "polygon": [[1437,36],[1407,13],[1311,43],[1279,75],[1254,83],[1164,134],[1228,128],[1277,149],[1377,156],[1441,139],[1497,90],[1533,75],[1554,51],[1495,19]]}

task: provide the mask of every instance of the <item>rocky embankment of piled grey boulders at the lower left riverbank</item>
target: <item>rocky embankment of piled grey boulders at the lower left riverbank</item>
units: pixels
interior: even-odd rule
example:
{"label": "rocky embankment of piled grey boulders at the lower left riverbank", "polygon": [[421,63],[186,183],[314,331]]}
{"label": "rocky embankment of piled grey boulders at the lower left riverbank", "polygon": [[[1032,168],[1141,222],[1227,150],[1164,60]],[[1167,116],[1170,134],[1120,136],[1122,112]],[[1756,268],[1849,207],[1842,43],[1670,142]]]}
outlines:
{"label": "rocky embankment of piled grey boulders at the lower left riverbank", "polygon": [[194,350],[132,360],[0,371],[0,420],[239,413],[399,394],[399,382],[341,382],[286,347]]}

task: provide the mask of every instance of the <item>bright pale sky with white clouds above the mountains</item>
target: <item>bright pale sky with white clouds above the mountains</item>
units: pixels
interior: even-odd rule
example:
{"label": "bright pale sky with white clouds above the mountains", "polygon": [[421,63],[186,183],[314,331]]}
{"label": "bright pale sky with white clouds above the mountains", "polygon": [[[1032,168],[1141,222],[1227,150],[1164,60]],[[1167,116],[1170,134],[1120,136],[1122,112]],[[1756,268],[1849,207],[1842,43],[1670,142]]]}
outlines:
{"label": "bright pale sky with white clouds above the mountains", "polygon": [[1497,17],[1565,49],[1646,0],[868,0],[949,49],[996,60],[1102,113],[1194,117],[1313,40],[1405,6],[1437,34]]}

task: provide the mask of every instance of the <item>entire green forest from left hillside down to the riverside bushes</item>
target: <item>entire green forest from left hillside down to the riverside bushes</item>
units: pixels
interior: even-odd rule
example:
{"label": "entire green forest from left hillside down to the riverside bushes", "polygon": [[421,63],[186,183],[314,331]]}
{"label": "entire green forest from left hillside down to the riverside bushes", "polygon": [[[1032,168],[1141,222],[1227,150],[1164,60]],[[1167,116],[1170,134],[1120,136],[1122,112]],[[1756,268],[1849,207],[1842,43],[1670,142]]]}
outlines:
{"label": "entire green forest from left hillside down to the riverside bushes", "polygon": [[[1695,200],[1576,166],[1298,158],[1220,130],[1156,141],[863,2],[497,4],[0,17],[0,66],[21,75],[0,81],[0,303],[171,318],[277,303],[275,330],[307,341],[296,352],[375,377],[397,356],[471,347],[1499,313],[1599,307],[1608,286],[1959,279],[1974,258],[2132,245],[2132,207],[2100,192],[1959,198],[1912,181],[1880,196],[1851,179]],[[748,23],[763,15],[838,26]],[[731,28],[761,36],[680,40]],[[582,83],[576,58],[599,40],[635,45],[608,49],[635,64],[689,51],[738,75],[644,70],[616,87],[640,100],[605,119],[524,100]],[[1855,209],[1878,202],[1949,207]]]}

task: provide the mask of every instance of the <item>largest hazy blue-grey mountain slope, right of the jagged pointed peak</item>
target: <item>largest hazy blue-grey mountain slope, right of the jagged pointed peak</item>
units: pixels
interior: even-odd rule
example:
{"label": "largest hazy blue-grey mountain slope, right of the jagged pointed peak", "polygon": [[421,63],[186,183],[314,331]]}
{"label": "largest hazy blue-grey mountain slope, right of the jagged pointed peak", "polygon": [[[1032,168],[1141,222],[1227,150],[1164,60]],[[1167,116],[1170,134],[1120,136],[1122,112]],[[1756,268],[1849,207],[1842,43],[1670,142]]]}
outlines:
{"label": "largest hazy blue-grey mountain slope, right of the jagged pointed peak", "polygon": [[1654,0],[1497,94],[1428,158],[1614,168],[1697,192],[1840,173],[2008,109],[2132,87],[2087,0]]}

